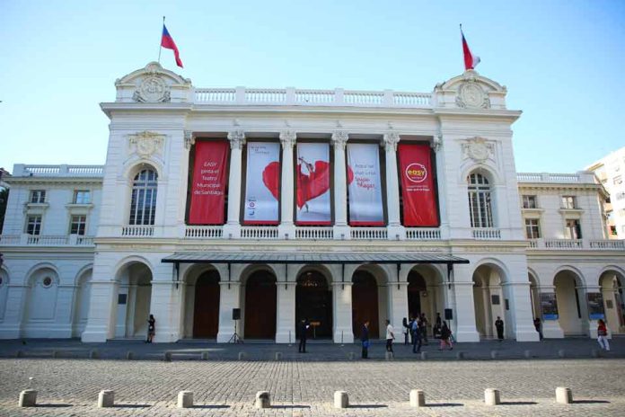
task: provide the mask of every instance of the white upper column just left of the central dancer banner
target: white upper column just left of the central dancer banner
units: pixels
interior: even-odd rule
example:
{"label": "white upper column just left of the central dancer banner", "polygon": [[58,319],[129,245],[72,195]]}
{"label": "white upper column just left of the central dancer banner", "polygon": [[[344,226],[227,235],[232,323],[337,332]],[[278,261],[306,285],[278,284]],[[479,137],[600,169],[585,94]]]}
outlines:
{"label": "white upper column just left of the central dancer banner", "polygon": [[293,146],[296,134],[293,130],[280,132],[282,144],[282,186],[280,188],[280,226],[277,226],[277,235],[281,239],[295,239],[295,224],[293,223]]}

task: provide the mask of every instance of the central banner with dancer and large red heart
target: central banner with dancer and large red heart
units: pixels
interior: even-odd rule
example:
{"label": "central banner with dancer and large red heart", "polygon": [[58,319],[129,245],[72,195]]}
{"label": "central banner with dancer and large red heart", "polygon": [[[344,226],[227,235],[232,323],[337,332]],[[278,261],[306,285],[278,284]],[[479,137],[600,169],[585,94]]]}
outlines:
{"label": "central banner with dancer and large red heart", "polygon": [[330,225],[330,145],[297,143],[295,223]]}

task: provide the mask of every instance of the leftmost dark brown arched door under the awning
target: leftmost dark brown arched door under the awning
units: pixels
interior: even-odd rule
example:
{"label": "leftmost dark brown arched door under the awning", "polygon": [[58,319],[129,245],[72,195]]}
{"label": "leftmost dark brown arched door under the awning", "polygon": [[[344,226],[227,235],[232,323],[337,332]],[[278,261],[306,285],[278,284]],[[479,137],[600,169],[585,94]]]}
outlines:
{"label": "leftmost dark brown arched door under the awning", "polygon": [[193,337],[212,339],[219,327],[219,273],[207,271],[196,282]]}

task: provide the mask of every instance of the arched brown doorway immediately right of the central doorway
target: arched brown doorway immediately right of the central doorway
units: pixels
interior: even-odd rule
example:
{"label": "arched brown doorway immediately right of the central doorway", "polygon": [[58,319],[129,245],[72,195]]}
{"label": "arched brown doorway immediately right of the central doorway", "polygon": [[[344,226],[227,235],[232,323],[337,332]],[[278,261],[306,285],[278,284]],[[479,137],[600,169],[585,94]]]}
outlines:
{"label": "arched brown doorway immediately right of the central doorway", "polygon": [[352,282],[352,329],[354,329],[354,337],[360,337],[363,324],[368,320],[369,337],[377,339],[380,337],[377,281],[368,271],[356,271]]}

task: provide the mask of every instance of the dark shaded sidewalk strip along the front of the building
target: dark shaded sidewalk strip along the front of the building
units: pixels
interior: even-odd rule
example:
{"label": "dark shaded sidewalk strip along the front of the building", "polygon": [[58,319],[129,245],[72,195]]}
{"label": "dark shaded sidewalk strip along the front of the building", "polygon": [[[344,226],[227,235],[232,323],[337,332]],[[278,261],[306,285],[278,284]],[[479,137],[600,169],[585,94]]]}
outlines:
{"label": "dark shaded sidewalk strip along the front of the building", "polygon": [[[384,360],[384,341],[374,341],[369,349],[372,360]],[[625,337],[616,336],[610,341],[610,351],[603,351],[594,339],[569,338],[551,339],[541,342],[483,341],[477,343],[456,343],[453,350],[438,350],[438,341],[431,340],[421,349],[425,359],[558,359],[558,358],[625,358]],[[394,359],[418,360],[421,355],[412,353],[412,346],[403,343],[393,345]],[[240,344],[224,344],[208,341],[180,341],[175,343],[151,343],[143,341],[112,340],[105,343],[83,343],[77,339],[25,339],[0,341],[0,358],[64,358],[85,359],[90,354],[100,359],[163,360],[170,352],[173,360],[237,360],[243,352],[246,360],[275,360],[281,354],[282,360],[297,361],[340,361],[360,359],[360,343],[335,344],[329,341],[309,341],[307,353],[298,353],[297,344],[276,344],[274,342],[247,341]],[[493,352],[495,358],[493,358]],[[204,357],[203,357],[204,354]]]}

